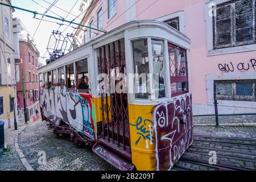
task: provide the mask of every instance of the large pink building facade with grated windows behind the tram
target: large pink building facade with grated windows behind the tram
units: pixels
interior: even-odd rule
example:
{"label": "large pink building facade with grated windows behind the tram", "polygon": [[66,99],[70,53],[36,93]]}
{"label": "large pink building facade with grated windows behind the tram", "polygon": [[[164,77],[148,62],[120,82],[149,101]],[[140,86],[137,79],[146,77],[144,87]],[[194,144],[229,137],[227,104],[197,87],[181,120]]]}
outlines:
{"label": "large pink building facade with grated windows behind the tram", "polygon": [[[256,112],[255,0],[92,0],[85,7],[86,26],[110,31],[133,20],[159,20],[187,35],[194,115],[214,114],[214,98],[219,114]],[[102,34],[76,32],[81,44]]]}

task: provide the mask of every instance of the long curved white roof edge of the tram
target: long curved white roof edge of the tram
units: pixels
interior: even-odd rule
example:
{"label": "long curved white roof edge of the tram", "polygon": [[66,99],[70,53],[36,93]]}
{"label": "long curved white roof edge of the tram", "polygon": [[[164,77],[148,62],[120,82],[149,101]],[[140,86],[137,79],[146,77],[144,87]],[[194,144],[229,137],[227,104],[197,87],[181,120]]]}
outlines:
{"label": "long curved white roof edge of the tram", "polygon": [[[176,30],[175,28],[169,26],[166,23],[160,22],[158,20],[136,20],[136,21],[125,23],[122,26],[114,28],[113,30],[111,30],[109,32],[106,32],[105,34],[103,34],[101,36],[98,36],[97,38],[95,38],[93,40],[90,40],[88,43],[83,44],[79,48],[73,49],[71,52],[65,54],[64,56],[59,57],[55,61],[52,61],[52,63],[44,65],[43,67],[40,67],[38,69],[38,71],[40,72],[42,69],[47,68],[47,67],[49,67],[49,69],[52,69],[51,68],[52,64],[56,64],[58,61],[60,61],[62,59],[65,59],[65,57],[68,57],[72,54],[75,54],[78,51],[81,51],[81,49],[84,49],[84,48],[90,47],[90,46],[94,46],[94,44],[98,44],[101,41],[103,41],[107,38],[110,38],[111,36],[114,36],[114,35],[117,35],[117,34],[120,34],[120,33],[124,32],[125,30],[129,30],[129,29],[133,29],[133,28],[139,28],[139,27],[160,27],[160,28],[163,28],[166,31],[171,32],[172,34],[179,35],[179,37],[181,39],[185,40],[185,42],[188,42],[188,43],[191,42],[191,39],[189,39],[185,34]],[[112,42],[115,41],[115,40],[116,39],[113,38]],[[98,46],[98,47],[100,47],[100,46]]]}

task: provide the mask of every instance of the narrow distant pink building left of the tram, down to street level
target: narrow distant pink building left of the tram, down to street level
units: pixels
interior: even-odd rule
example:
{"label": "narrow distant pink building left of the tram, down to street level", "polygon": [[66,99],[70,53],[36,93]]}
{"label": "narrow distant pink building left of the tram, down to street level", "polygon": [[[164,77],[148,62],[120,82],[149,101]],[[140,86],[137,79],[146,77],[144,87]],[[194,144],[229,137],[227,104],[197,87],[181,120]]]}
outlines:
{"label": "narrow distant pink building left of the tram, down to street level", "polygon": [[[24,88],[26,97],[26,108],[29,117],[35,116],[36,109],[39,108],[39,89],[38,89],[38,57],[39,51],[36,49],[34,43],[28,38],[27,34],[19,34],[19,52],[22,64],[19,67],[20,81],[17,84],[17,104],[19,110],[19,119],[24,118],[24,102],[23,102],[23,87],[22,82],[24,78]],[[23,70],[23,76],[22,76]]]}

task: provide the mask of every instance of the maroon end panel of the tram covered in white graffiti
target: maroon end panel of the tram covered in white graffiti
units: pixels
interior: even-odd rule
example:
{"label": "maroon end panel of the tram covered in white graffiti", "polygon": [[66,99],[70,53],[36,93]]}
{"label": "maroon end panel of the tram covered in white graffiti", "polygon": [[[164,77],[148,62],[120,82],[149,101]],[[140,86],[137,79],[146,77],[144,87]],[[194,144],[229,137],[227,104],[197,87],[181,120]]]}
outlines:
{"label": "maroon end panel of the tram covered in white graffiti", "polygon": [[[183,113],[187,118],[181,119]],[[192,144],[191,94],[168,104],[158,105],[153,115],[156,170],[170,170]]]}

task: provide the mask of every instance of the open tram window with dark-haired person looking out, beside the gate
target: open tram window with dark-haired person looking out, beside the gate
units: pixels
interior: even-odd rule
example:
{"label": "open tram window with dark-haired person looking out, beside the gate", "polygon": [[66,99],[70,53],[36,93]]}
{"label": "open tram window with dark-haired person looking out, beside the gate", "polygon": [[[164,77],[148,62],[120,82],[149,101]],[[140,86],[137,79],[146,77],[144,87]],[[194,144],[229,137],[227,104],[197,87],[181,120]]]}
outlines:
{"label": "open tram window with dark-haired person looking out, beside the gate", "polygon": [[89,93],[88,61],[87,59],[76,63],[77,83],[79,93]]}

